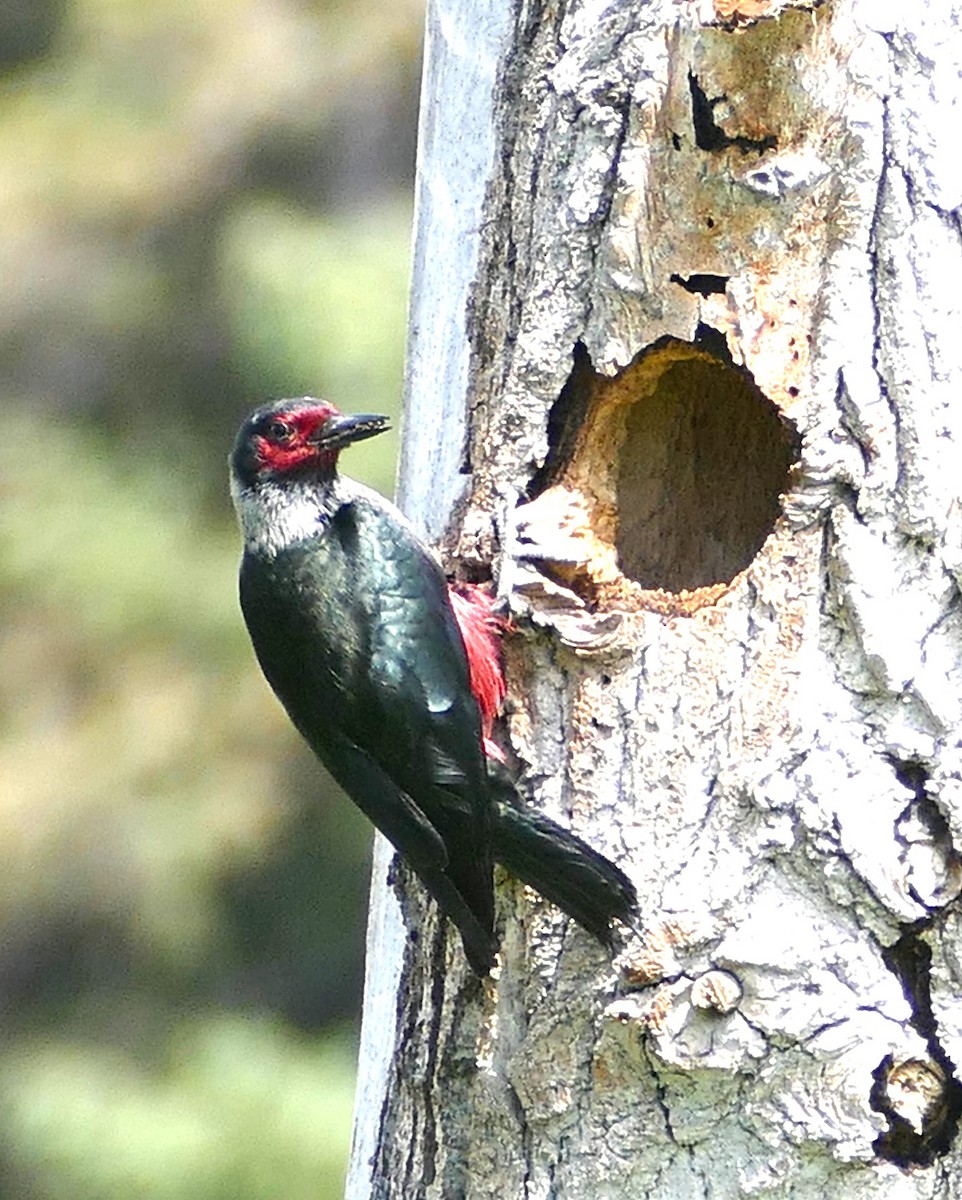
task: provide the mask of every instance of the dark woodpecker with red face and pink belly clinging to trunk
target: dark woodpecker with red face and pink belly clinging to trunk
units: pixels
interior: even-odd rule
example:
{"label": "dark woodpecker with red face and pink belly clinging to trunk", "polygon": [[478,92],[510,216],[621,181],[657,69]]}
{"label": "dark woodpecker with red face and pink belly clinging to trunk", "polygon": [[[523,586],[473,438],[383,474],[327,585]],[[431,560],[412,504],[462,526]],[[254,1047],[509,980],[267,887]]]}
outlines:
{"label": "dark woodpecker with red face and pink belly clinging to trunk", "polygon": [[447,580],[402,514],[341,475],[387,428],[312,397],[255,409],[230,456],[240,601],[291,721],[461,932],[494,964],[493,863],[611,947],[636,894],[613,863],[523,803],[492,740],[504,698],[498,620]]}

